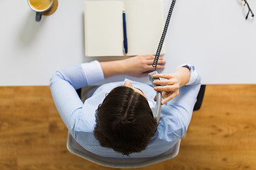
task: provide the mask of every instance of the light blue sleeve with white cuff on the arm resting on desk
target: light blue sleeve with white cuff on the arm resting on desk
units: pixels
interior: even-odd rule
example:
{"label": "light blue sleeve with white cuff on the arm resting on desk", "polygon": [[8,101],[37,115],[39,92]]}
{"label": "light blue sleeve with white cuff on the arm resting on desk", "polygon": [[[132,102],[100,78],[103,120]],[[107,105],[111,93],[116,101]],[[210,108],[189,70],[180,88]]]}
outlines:
{"label": "light blue sleeve with white cuff on the arm resting on desk", "polygon": [[77,64],[61,69],[50,79],[53,101],[68,130],[75,124],[75,118],[83,103],[76,89],[105,79],[100,63],[97,61]]}

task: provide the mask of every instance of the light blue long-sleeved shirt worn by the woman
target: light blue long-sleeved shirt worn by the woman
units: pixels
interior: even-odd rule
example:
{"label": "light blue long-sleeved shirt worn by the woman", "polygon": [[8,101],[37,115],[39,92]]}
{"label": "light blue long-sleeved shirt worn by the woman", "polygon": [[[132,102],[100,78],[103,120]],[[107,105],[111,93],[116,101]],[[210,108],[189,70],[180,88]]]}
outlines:
{"label": "light blue long-sleeved shirt worn by the woman", "polygon": [[[75,140],[87,151],[101,157],[112,158],[137,158],[154,157],[166,152],[173,147],[188,130],[191,121],[193,106],[200,89],[201,77],[196,67],[188,64],[191,77],[186,84],[179,89],[179,95],[161,107],[161,120],[159,127],[152,137],[146,149],[139,153],[132,153],[129,157],[115,152],[113,149],[101,147],[93,135],[95,128],[95,110],[102,103],[106,94],[117,86],[122,86],[124,81],[103,84],[85,103],[82,103],[75,89],[92,85],[105,79],[100,63],[97,61],[78,64],[55,72],[50,79],[50,90],[55,106],[60,113],[63,122],[73,135]],[[132,81],[132,85],[141,89],[149,101],[149,106],[156,105],[152,86]]]}

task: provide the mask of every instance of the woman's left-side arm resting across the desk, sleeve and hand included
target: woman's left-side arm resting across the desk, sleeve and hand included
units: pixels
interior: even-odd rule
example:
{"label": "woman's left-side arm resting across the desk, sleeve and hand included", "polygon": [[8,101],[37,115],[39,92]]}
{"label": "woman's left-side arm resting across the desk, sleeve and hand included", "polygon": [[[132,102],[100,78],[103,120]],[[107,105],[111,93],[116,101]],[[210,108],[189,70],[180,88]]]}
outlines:
{"label": "woman's left-side arm resting across the desk, sleeve and hand included", "polygon": [[[75,89],[80,89],[82,86],[94,84],[105,79],[105,77],[117,74],[128,74],[137,77],[146,75],[145,72],[149,72],[153,68],[151,67],[153,60],[153,55],[144,55],[111,62],[93,61],[55,72],[52,79],[50,79],[50,91],[55,106],[68,130],[73,128],[76,115],[83,106]],[[162,59],[160,61],[159,69],[164,68],[165,63]]]}

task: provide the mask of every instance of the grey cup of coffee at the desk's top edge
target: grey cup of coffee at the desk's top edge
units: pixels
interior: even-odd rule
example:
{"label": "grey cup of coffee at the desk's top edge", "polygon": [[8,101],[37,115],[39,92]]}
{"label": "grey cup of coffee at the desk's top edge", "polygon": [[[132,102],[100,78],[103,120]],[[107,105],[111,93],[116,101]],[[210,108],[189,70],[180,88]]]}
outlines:
{"label": "grey cup of coffee at the desk's top edge", "polygon": [[41,21],[44,11],[48,11],[53,5],[53,0],[28,0],[28,5],[36,11],[36,21]]}

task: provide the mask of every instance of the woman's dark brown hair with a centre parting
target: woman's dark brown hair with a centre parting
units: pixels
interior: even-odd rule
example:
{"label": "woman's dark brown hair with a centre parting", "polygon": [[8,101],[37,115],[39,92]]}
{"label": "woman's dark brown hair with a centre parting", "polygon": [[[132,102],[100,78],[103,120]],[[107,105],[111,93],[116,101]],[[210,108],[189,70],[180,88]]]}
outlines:
{"label": "woman's dark brown hair with a centre parting", "polygon": [[127,156],[146,149],[158,126],[146,98],[127,86],[114,88],[95,117],[100,145]]}

